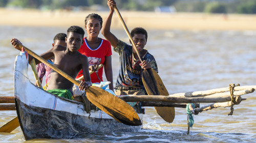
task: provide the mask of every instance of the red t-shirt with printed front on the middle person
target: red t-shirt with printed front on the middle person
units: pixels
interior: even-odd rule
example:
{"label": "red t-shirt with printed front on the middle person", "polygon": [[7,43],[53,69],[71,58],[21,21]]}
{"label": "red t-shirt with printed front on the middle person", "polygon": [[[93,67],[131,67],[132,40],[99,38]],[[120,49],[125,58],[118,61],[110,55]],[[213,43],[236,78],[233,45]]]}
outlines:
{"label": "red t-shirt with printed front on the middle person", "polygon": [[[86,37],[83,38],[83,44],[78,50],[81,54],[84,54],[88,58],[89,66],[91,65],[104,65],[105,57],[112,55],[111,51],[111,44],[109,41],[101,39],[101,43],[99,47],[96,49],[91,49],[86,42]],[[104,67],[104,66],[103,66]],[[91,74],[92,83],[103,81],[102,74],[103,74],[103,67],[100,68],[98,71]],[[76,78],[82,76],[82,70],[78,73]]]}

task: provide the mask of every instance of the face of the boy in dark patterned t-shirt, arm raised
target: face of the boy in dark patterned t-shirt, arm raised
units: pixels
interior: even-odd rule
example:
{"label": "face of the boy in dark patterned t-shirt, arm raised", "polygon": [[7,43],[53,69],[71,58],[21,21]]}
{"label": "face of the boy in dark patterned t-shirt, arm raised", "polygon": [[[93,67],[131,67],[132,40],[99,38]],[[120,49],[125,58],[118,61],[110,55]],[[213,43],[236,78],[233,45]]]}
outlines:
{"label": "face of the boy in dark patterned t-shirt, arm raised", "polygon": [[[146,36],[144,34],[134,34],[133,41],[137,49],[141,52],[146,45]],[[130,43],[132,44],[131,40]],[[133,49],[133,52],[136,53],[136,50]]]}

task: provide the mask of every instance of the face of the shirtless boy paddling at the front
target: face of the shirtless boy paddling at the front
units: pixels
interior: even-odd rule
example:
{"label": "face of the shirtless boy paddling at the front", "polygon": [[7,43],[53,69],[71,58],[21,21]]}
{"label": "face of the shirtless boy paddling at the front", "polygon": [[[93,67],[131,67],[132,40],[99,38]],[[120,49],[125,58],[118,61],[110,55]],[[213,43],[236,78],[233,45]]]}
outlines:
{"label": "face of the shirtless boy paddling at the front", "polygon": [[69,32],[66,38],[67,48],[70,51],[77,51],[82,44],[82,35],[74,32]]}

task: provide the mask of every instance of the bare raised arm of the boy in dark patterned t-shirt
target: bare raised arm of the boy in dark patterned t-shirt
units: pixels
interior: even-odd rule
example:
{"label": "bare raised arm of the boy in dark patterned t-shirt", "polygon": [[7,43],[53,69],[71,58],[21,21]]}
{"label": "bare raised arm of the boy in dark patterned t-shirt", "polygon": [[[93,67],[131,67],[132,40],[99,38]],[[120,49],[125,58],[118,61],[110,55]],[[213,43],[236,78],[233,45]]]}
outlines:
{"label": "bare raised arm of the boy in dark patterned t-shirt", "polygon": [[104,20],[103,24],[102,24],[102,30],[101,30],[101,34],[105,37],[106,40],[110,41],[110,44],[113,47],[116,47],[118,39],[116,38],[116,36],[114,34],[112,34],[110,32],[110,26],[111,26],[111,20],[112,20],[112,16],[114,13],[114,7],[116,5],[116,2],[114,0],[108,0],[108,6],[110,8],[110,13],[109,16],[106,17],[106,19]]}

